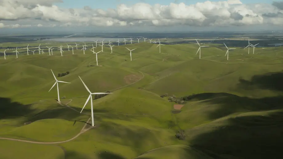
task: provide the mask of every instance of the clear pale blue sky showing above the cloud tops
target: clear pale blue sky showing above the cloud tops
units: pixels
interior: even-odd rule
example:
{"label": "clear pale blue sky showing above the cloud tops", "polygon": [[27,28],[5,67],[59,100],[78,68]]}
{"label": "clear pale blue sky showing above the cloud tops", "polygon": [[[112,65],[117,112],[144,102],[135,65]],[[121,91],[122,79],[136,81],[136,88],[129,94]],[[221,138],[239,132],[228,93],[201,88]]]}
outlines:
{"label": "clear pale blue sky showing above the cloud tops", "polygon": [[[138,2],[145,2],[149,4],[162,4],[169,5],[171,2],[184,2],[185,4],[195,4],[197,2],[205,2],[206,0],[64,0],[63,3],[56,4],[59,7],[63,8],[82,8],[83,6],[90,6],[91,8],[116,8],[118,4],[124,3],[127,5],[132,5]],[[219,1],[219,0],[210,0],[210,1]],[[273,0],[241,0],[242,3],[269,3],[271,4]]]}

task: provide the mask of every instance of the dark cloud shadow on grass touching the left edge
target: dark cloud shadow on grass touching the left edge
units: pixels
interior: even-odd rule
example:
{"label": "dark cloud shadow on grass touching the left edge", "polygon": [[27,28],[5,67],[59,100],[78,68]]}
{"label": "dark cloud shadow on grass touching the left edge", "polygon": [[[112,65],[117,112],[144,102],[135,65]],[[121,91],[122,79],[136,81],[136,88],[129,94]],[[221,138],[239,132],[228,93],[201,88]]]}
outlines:
{"label": "dark cloud shadow on grass touching the left edge", "polygon": [[0,97],[0,119],[17,118],[33,112],[31,104],[12,102],[10,98]]}

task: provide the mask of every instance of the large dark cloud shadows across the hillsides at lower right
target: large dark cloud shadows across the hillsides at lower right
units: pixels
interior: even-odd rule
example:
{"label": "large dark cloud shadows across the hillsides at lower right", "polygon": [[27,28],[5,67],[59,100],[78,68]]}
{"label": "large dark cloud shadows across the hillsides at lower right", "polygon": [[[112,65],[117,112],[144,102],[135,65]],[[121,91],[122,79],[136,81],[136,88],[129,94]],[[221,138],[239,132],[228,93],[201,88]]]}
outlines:
{"label": "large dark cloud shadows across the hillsides at lower right", "polygon": [[[281,72],[266,73],[253,76],[250,81],[240,79],[238,86],[283,91],[281,79]],[[210,119],[236,112],[255,112],[192,128],[186,135],[200,130],[203,133],[193,136],[189,146],[213,158],[282,158],[283,96],[253,99],[228,93],[203,93],[188,97],[189,101],[204,100],[207,105],[217,107],[208,112]],[[265,114],[256,111],[265,111]]]}

